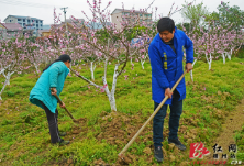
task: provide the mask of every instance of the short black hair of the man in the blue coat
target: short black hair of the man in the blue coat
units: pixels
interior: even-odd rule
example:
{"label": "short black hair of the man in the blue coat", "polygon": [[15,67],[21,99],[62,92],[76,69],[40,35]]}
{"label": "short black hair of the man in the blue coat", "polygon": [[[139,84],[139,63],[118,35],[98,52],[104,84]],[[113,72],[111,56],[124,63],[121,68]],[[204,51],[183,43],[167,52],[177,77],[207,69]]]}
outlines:
{"label": "short black hair of the man in the blue coat", "polygon": [[174,30],[175,30],[175,22],[170,18],[162,18],[157,22],[157,31],[159,33],[163,31],[169,31],[170,33],[173,33]]}

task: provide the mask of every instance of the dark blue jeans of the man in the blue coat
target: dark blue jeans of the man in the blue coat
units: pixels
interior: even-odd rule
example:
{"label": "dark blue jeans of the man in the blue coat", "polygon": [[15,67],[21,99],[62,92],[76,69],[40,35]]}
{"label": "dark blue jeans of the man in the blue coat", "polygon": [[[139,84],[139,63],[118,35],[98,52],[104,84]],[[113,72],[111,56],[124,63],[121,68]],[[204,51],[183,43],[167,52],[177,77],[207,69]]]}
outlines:
{"label": "dark blue jeans of the man in the blue coat", "polygon": [[[170,115],[169,115],[169,140],[178,139],[178,128],[179,128],[179,119],[182,113],[182,100],[178,101],[180,95],[177,90],[173,93],[173,101],[170,107]],[[154,111],[159,106],[159,103],[154,102]],[[154,147],[162,146],[163,142],[163,129],[164,129],[164,119],[167,112],[167,104],[164,104],[153,120],[153,141]]]}

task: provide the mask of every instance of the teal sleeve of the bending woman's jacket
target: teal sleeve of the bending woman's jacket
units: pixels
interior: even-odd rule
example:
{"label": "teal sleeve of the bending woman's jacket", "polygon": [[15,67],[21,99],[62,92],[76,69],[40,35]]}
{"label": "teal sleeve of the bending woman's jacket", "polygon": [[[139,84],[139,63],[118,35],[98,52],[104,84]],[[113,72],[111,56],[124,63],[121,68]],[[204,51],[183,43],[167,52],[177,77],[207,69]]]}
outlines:
{"label": "teal sleeve of the bending woman's jacket", "polygon": [[56,88],[57,87],[57,77],[63,70],[58,65],[51,66],[49,69],[49,87]]}

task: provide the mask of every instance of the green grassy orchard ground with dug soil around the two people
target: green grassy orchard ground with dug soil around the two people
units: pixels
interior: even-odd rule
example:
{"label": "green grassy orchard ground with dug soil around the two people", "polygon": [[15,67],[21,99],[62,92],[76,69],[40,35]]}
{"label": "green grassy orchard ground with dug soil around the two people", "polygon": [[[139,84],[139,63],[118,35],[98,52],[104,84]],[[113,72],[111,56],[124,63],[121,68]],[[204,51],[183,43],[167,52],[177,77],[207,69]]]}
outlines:
{"label": "green grassy orchard ground with dug soil around the two people", "polygon": [[[187,98],[179,139],[187,145],[187,151],[178,152],[165,140],[165,165],[189,164],[190,143],[201,141],[211,145],[219,135],[224,117],[244,98],[244,65],[241,62],[244,63],[234,58],[223,65],[222,60],[217,60],[212,70],[208,70],[208,64],[198,62],[193,70],[195,82],[190,81],[189,74],[186,76]],[[113,66],[109,68],[108,82],[111,87]],[[58,109],[59,130],[67,131],[68,135],[64,139],[71,141],[67,146],[49,143],[45,112],[29,102],[29,93],[38,77],[34,74],[14,75],[0,104],[0,165],[125,164],[118,159],[118,153],[153,112],[149,63],[145,64],[144,70],[140,64],[134,70],[130,68],[129,64],[127,71],[118,80],[117,113],[110,111],[106,93],[89,88],[80,78],[67,77],[60,98],[76,119],[84,120],[76,124],[63,109]],[[81,66],[79,70],[90,77],[88,67]],[[96,82],[101,84],[102,73],[102,67],[96,68]],[[129,75],[127,80],[124,80],[125,75]],[[3,82],[2,76],[0,82]],[[164,131],[164,136],[167,135],[168,115]],[[243,131],[237,137],[240,135]],[[243,148],[241,142],[243,139],[239,139],[240,148]],[[127,154],[130,165],[157,165],[153,158],[152,123]]]}

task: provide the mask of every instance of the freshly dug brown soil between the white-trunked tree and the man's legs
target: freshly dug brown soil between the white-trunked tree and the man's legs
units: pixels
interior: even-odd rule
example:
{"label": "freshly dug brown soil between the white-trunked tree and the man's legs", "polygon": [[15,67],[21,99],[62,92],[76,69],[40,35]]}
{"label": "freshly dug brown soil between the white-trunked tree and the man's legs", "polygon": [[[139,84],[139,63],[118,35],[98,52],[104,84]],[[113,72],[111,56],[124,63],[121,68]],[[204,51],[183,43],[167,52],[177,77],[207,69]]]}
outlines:
{"label": "freshly dug brown soil between the white-trunked tree and the man's legs", "polygon": [[[99,120],[99,123],[101,123],[102,131],[97,139],[106,139],[108,143],[117,144],[120,147],[126,144],[146,121],[146,118],[142,119],[142,114],[127,115],[120,112],[111,112],[109,114],[102,112],[101,114],[103,117]],[[152,124],[153,122],[142,132],[141,135],[144,135],[144,140],[141,141],[137,137],[135,142],[152,141],[152,134],[146,135],[146,133],[152,132]]]}

